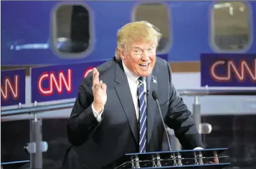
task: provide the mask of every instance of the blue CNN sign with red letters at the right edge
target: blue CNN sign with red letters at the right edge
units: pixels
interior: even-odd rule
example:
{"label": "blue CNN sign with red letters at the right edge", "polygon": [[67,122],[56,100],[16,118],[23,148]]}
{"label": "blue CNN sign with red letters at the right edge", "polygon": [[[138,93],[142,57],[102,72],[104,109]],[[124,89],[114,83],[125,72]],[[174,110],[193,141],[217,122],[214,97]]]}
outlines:
{"label": "blue CNN sign with red letters at the right edge", "polygon": [[201,55],[201,86],[256,87],[256,54]]}

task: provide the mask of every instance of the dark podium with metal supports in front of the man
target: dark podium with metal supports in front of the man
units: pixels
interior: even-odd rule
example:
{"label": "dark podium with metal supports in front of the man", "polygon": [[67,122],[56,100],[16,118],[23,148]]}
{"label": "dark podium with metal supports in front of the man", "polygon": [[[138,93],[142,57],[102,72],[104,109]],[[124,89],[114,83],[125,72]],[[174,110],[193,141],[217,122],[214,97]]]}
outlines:
{"label": "dark podium with metal supports in front of the man", "polygon": [[[227,148],[212,148],[202,150],[128,153],[123,157],[124,162],[120,163],[115,169],[224,168],[231,164],[223,162],[227,161],[227,158],[229,158],[228,155],[222,155],[226,150]],[[219,158],[219,163],[209,163],[214,157]]]}

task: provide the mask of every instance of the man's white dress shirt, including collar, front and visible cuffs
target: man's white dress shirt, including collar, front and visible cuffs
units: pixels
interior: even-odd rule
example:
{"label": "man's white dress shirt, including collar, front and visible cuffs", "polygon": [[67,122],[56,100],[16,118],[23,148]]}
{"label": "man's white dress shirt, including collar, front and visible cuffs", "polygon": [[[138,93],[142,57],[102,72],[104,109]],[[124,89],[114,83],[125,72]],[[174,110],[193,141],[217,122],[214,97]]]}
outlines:
{"label": "man's white dress shirt, including collar, front and visible cuffs", "polygon": [[[138,78],[139,78],[139,76],[136,76],[134,73],[129,71],[124,63],[123,63],[123,70],[125,71],[125,74],[126,74],[129,86],[130,86],[131,96],[133,98],[133,104],[134,104],[134,108],[135,108],[135,111],[136,111],[136,117],[137,117],[137,120],[138,120],[139,114],[140,114],[139,113],[139,107],[138,107],[138,85],[139,85]],[[143,83],[145,85],[144,91],[146,92],[146,81],[144,80]],[[145,101],[146,101],[146,99],[145,99]],[[97,111],[95,111],[95,108],[93,108],[93,105],[92,105],[92,109],[93,109],[93,114],[94,114],[95,118],[97,118],[97,120],[99,122],[102,121],[102,113],[104,111],[104,108],[100,112],[100,116],[99,116],[99,113]],[[194,150],[197,150],[197,149],[203,149],[203,148],[199,148],[199,147],[194,148]]]}

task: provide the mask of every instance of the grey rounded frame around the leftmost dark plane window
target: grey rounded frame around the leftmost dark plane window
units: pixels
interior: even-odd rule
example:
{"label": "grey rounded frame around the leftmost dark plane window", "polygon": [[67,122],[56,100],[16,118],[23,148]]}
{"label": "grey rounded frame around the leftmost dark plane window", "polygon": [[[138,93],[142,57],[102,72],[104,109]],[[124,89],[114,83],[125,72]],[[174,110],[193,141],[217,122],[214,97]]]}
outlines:
{"label": "grey rounded frame around the leftmost dark plane window", "polygon": [[[57,43],[57,10],[60,9],[60,7],[65,6],[65,5],[70,5],[70,6],[82,6],[84,7],[89,14],[89,34],[90,34],[90,39],[89,39],[89,44],[88,47],[85,49],[85,51],[82,51],[80,53],[66,53],[58,50],[56,48],[56,43]],[[50,30],[49,30],[49,46],[51,46],[53,53],[58,56],[59,58],[62,59],[70,59],[70,58],[85,58],[87,57],[94,49],[95,44],[94,44],[94,39],[95,39],[95,32],[94,32],[94,14],[93,10],[90,9],[90,6],[83,2],[60,2],[57,5],[55,5],[51,12],[50,12]]]}

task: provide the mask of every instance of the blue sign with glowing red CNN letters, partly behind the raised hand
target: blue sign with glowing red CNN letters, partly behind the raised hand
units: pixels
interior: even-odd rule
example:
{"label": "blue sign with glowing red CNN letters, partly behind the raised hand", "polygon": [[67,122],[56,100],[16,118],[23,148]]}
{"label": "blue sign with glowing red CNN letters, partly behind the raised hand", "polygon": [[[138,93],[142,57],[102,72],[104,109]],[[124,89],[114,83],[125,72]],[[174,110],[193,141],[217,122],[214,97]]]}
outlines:
{"label": "blue sign with glowing red CNN letters, partly behind the raised hand", "polygon": [[76,98],[80,85],[93,68],[105,61],[32,68],[32,102]]}

